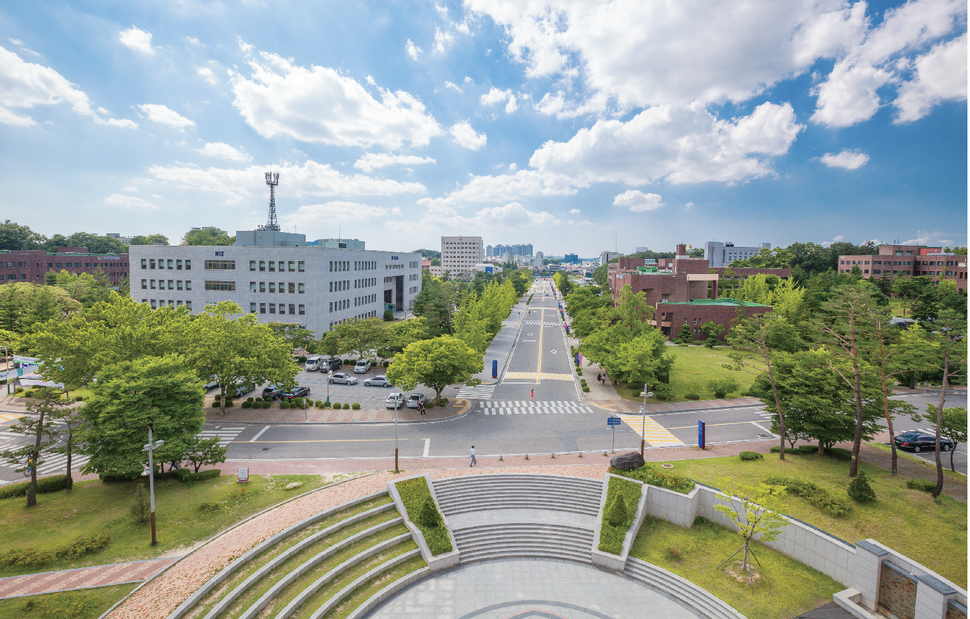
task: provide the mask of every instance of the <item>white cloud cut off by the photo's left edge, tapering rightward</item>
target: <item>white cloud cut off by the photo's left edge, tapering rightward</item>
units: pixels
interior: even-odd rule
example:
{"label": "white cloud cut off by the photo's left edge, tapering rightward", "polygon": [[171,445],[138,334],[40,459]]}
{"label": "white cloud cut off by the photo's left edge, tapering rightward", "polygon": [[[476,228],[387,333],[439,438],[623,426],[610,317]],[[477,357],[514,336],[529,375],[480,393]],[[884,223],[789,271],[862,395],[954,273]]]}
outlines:
{"label": "white cloud cut off by the photo's left edge, tapering rightward", "polygon": [[26,62],[14,52],[0,47],[0,124],[29,127],[37,123],[15,110],[40,105],[67,103],[75,113],[91,117],[95,123],[122,129],[136,129],[138,124],[127,119],[102,118],[104,108],[91,109],[87,94],[51,69]]}

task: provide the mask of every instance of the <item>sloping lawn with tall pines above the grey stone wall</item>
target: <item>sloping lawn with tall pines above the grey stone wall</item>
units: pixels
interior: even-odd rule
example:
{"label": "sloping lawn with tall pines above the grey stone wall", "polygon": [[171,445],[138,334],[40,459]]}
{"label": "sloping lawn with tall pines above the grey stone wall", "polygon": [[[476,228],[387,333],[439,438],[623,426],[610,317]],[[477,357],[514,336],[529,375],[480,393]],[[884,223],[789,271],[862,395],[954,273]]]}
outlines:
{"label": "sloping lawn with tall pines above the grey stone wall", "polygon": [[[674,468],[670,472],[726,492],[737,492],[739,484],[753,485],[771,475],[782,475],[810,480],[835,496],[848,498],[849,463],[827,457],[788,456],[781,462],[777,454],[766,454],[764,460],[753,462],[730,457],[671,464]],[[967,505],[946,494],[934,502],[928,493],[906,488],[906,477],[894,479],[887,470],[866,464],[860,464],[860,470],[866,472],[876,492],[875,503],[853,502],[849,515],[836,518],[823,514],[804,499],[787,496],[782,499],[781,511],[847,542],[872,538],[965,588]],[[962,483],[966,483],[966,478]]]}

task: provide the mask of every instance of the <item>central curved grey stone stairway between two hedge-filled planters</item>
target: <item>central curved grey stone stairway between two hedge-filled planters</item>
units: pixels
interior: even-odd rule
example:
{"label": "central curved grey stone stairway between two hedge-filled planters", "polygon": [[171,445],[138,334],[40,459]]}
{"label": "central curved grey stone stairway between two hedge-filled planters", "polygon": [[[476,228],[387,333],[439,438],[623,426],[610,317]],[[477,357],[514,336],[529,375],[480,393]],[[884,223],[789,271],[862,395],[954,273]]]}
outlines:
{"label": "central curved grey stone stairway between two hedge-filled planters", "polygon": [[466,475],[434,482],[461,563],[545,558],[590,563],[603,483],[558,475]]}

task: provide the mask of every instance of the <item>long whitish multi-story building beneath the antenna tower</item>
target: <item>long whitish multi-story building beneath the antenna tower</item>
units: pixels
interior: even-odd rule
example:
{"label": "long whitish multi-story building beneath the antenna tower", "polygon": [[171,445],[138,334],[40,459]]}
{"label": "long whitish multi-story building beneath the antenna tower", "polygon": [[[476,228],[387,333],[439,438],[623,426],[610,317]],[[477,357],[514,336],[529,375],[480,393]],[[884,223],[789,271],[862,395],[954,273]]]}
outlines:
{"label": "long whitish multi-story building beneath the antenna tower", "polygon": [[[302,235],[301,235],[302,236]],[[305,242],[305,241],[304,241]],[[260,322],[297,323],[317,338],[353,318],[411,309],[421,254],[325,247],[133,245],[131,297],[192,313],[233,301]]]}

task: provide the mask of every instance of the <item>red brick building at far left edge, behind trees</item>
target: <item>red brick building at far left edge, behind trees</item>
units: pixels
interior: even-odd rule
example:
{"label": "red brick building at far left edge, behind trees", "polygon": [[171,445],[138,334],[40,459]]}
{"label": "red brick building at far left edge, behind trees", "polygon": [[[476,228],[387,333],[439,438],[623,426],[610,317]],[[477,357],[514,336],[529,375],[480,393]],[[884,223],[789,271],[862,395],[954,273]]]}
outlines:
{"label": "red brick building at far left edge, behind trees", "polygon": [[40,249],[0,251],[0,283],[43,284],[50,272],[91,273],[101,271],[112,285],[128,278],[128,254],[90,254],[87,247],[58,247],[56,252]]}

